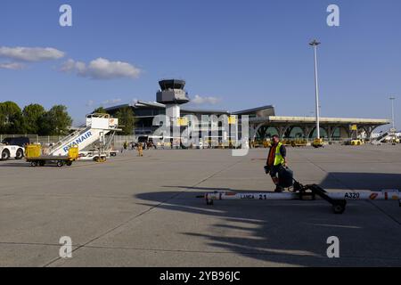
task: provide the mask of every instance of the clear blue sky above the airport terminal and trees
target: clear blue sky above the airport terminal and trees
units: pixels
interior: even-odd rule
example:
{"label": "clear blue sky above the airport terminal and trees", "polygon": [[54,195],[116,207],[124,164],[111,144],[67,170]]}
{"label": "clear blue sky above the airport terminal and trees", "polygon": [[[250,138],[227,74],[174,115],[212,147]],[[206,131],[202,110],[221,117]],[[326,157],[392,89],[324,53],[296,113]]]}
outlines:
{"label": "clear blue sky above the airport terminal and trees", "polygon": [[[72,27],[59,25],[61,4]],[[329,4],[340,27],[326,24]],[[399,0],[2,0],[0,101],[65,104],[81,122],[102,104],[154,101],[160,78],[179,77],[201,98],[195,107],[311,116],[317,37],[322,116],[389,118],[389,94],[401,95],[400,11]],[[28,61],[10,55],[16,47],[60,53]]]}

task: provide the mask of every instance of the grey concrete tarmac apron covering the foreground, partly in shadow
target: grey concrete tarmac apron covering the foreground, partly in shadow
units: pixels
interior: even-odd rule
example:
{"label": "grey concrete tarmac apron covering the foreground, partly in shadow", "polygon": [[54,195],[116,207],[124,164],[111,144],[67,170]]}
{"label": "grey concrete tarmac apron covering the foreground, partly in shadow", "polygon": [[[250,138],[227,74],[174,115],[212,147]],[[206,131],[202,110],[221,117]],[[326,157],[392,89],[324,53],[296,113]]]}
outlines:
{"label": "grey concrete tarmac apron covering the foreground, partly in shadow", "polygon": [[[400,266],[397,201],[216,201],[206,191],[273,191],[267,151],[127,151],[106,163],[0,161],[0,266]],[[288,148],[301,183],[401,189],[401,145]],[[69,236],[72,258],[61,258]],[[340,258],[326,243],[340,239]]]}

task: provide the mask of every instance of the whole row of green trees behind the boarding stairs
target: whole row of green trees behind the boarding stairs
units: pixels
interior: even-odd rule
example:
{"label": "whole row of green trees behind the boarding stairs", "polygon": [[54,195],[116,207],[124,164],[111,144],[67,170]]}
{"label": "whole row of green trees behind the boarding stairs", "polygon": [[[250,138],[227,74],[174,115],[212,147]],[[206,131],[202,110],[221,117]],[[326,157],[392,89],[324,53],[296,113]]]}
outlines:
{"label": "whole row of green trees behind the boarding stairs", "polygon": [[40,104],[29,104],[23,110],[15,102],[0,102],[0,134],[69,134],[72,118],[63,105],[50,110]]}

